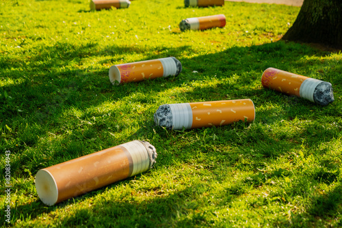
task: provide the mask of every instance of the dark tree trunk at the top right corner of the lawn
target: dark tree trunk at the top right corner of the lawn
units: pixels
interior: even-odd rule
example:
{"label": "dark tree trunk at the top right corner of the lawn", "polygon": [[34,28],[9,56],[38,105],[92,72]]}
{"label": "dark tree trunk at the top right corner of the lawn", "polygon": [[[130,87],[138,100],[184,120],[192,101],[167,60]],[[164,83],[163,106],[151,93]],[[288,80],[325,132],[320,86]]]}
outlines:
{"label": "dark tree trunk at the top right corner of the lawn", "polygon": [[304,0],[282,40],[342,46],[342,0]]}

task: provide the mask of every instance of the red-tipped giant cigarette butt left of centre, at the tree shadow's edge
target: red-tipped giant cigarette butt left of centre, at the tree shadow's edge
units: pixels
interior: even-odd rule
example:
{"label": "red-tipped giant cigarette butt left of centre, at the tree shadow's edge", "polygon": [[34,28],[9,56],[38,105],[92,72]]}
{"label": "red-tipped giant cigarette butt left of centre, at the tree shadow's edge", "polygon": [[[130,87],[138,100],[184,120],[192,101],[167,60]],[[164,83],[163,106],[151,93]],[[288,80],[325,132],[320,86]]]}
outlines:
{"label": "red-tipped giant cigarette butt left of centre, at the tree shadow's edge", "polygon": [[167,57],[111,66],[109,68],[109,80],[113,85],[118,85],[131,81],[176,76],[181,71],[181,62],[175,57]]}

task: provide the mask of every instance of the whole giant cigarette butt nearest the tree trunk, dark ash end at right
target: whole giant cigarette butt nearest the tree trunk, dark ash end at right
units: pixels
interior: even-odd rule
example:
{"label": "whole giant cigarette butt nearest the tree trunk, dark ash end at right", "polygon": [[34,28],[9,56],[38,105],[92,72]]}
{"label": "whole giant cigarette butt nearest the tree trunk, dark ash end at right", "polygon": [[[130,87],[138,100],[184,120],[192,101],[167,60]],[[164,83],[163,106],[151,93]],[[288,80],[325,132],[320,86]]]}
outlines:
{"label": "whole giant cigarette butt nearest the tree trunk, dark ash end at right", "polygon": [[334,101],[330,83],[276,68],[267,68],[263,72],[261,83],[263,87],[305,98],[323,106]]}

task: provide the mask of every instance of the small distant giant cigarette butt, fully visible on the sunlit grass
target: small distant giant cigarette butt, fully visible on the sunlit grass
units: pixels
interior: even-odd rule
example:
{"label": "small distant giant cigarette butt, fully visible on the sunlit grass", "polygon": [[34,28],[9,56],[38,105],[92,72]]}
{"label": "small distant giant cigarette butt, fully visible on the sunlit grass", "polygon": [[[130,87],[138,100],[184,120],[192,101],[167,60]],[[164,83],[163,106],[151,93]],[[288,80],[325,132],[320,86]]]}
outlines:
{"label": "small distant giant cigarette butt, fully visible on the sunlit grass", "polygon": [[226,25],[226,16],[218,14],[213,16],[200,16],[198,18],[187,18],[179,23],[181,31],[185,30],[204,30],[213,27],[224,27]]}

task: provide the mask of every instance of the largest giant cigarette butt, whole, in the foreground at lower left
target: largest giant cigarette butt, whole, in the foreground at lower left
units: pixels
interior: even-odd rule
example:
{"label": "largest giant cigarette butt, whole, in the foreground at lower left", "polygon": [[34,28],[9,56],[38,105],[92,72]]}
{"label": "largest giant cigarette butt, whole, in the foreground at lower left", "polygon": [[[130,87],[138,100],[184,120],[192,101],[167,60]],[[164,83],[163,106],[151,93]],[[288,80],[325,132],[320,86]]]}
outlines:
{"label": "largest giant cigarette butt, whole, in the foreground at lower left", "polygon": [[155,147],[131,141],[94,154],[40,169],[36,190],[40,200],[53,205],[151,169]]}

